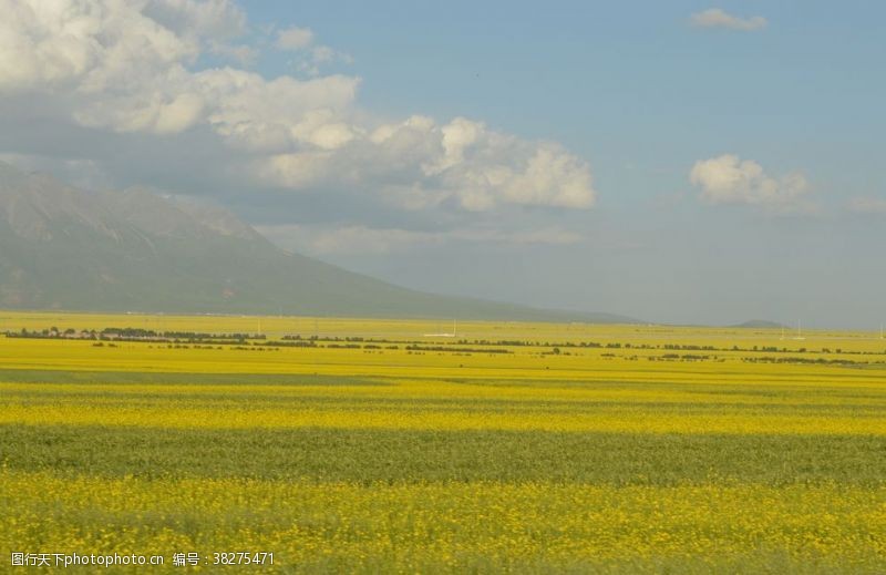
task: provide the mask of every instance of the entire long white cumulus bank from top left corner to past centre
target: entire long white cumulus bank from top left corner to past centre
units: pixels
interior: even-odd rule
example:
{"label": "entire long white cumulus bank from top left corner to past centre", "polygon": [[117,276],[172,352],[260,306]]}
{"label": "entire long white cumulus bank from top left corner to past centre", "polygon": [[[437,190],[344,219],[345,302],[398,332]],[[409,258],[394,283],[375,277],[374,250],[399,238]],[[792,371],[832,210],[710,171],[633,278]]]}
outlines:
{"label": "entire long white cumulus bank from top left corner to past centre", "polygon": [[[47,117],[114,145],[157,138],[168,150],[198,133],[213,138],[207,154],[227,151],[214,170],[254,186],[348,191],[403,213],[595,204],[590,166],[555,142],[465,117],[382,121],[360,110],[353,75],[206,68],[207,53],[255,54],[237,43],[249,24],[230,0],[0,0],[0,99],[48,106]],[[307,28],[265,33],[309,68],[343,58]]]}

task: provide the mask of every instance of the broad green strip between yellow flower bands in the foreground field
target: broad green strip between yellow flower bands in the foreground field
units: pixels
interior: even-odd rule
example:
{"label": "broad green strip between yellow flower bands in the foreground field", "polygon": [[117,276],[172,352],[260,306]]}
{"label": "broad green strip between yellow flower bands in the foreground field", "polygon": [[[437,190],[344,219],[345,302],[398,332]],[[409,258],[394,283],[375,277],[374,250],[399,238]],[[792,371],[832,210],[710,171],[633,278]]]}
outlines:
{"label": "broad green strip between yellow flower bands in the foreground field", "polygon": [[71,475],[315,482],[886,484],[886,438],[0,425],[0,463]]}

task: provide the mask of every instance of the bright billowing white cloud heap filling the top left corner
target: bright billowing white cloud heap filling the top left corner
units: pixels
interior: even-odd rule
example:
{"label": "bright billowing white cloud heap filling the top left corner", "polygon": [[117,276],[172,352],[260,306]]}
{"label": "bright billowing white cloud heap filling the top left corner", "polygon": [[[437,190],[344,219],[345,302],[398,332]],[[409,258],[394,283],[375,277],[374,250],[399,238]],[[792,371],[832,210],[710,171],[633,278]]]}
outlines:
{"label": "bright billowing white cloud heap filling the top left corner", "polygon": [[0,92],[50,94],[91,127],[168,134],[208,123],[231,140],[262,140],[313,111],[340,113],[359,82],[192,70],[200,53],[245,27],[223,0],[0,0],[0,9],[9,14],[0,22]]}

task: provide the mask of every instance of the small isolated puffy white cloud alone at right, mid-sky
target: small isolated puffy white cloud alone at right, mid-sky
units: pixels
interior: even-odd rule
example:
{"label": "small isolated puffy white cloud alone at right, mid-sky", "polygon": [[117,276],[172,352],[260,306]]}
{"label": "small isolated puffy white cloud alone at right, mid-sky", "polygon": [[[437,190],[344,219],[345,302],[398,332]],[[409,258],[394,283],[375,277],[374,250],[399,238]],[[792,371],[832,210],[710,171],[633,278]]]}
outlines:
{"label": "small isolated puffy white cloud alone at right, mid-sky", "polygon": [[696,162],[689,178],[709,204],[744,204],[769,212],[808,212],[808,183],[803,174],[767,175],[753,160],[724,154]]}

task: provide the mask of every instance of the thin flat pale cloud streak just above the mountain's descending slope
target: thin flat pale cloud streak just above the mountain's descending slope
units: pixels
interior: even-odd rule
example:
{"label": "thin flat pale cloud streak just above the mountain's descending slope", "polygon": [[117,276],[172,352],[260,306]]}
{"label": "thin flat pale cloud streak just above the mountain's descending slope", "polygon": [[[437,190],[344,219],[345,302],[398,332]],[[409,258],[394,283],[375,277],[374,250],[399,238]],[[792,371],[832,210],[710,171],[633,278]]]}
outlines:
{"label": "thin flat pale cloud streak just above the mountain's descending slope", "polygon": [[421,232],[367,226],[318,227],[302,225],[261,226],[261,234],[285,248],[315,255],[390,254],[447,244],[574,245],[584,240],[579,234],[558,228],[532,232],[502,232],[484,228],[457,228],[446,232]]}

